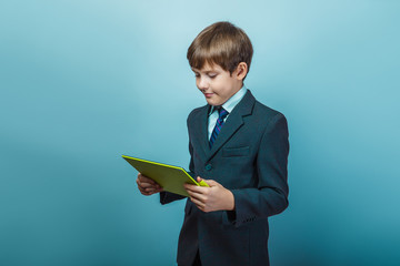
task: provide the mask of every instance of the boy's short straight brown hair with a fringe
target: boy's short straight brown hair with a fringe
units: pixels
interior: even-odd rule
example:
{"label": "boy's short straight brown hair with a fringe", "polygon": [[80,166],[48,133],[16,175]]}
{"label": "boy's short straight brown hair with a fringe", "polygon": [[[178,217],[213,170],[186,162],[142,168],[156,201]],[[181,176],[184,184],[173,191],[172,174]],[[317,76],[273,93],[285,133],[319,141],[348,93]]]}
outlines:
{"label": "boy's short straight brown hair with a fringe", "polygon": [[253,49],[243,30],[228,21],[216,22],[203,29],[188,49],[187,58],[191,68],[201,70],[207,62],[220,65],[230,74],[240,62],[250,70]]}

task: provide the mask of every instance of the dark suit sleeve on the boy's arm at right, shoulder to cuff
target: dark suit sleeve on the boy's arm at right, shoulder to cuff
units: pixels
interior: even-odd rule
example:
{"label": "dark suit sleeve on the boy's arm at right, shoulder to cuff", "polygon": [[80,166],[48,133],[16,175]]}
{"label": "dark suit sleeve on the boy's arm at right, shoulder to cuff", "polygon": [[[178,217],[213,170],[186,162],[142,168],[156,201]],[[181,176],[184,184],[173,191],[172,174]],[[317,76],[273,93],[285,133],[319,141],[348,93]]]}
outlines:
{"label": "dark suit sleeve on the boy's arm at right, shoulder to cuff", "polygon": [[237,227],[241,224],[283,212],[288,207],[288,123],[283,114],[271,119],[262,135],[256,167],[258,187],[232,190],[234,211],[226,219]]}

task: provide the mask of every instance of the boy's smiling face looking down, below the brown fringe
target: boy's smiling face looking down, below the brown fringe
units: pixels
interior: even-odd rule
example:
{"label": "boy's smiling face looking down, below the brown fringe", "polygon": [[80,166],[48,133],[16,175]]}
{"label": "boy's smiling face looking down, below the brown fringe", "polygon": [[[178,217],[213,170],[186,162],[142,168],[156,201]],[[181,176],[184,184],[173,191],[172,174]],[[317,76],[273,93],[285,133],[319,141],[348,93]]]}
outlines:
{"label": "boy's smiling face looking down, below the brown fringe", "polygon": [[238,66],[230,74],[218,64],[211,66],[206,63],[201,70],[192,68],[192,71],[196,74],[196,85],[204,94],[206,101],[210,105],[222,105],[242,88],[243,76],[238,73],[239,69]]}

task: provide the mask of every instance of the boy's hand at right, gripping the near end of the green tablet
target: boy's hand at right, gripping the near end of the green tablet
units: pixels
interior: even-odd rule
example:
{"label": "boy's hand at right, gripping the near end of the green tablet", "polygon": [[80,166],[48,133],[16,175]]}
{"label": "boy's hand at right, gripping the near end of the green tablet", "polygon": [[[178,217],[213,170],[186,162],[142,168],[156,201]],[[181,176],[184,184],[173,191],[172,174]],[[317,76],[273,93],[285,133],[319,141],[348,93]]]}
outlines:
{"label": "boy's hand at right, gripping the near end of the green tablet", "polygon": [[[197,180],[200,182],[202,178],[198,176]],[[206,213],[234,209],[234,197],[231,191],[224,188],[213,180],[203,181],[206,181],[210,187],[191,184],[183,185],[190,195],[190,200],[198,208]]]}

